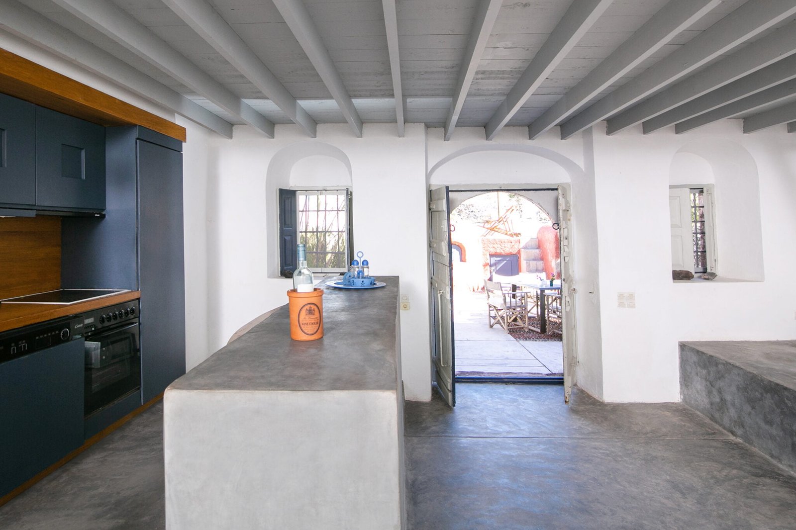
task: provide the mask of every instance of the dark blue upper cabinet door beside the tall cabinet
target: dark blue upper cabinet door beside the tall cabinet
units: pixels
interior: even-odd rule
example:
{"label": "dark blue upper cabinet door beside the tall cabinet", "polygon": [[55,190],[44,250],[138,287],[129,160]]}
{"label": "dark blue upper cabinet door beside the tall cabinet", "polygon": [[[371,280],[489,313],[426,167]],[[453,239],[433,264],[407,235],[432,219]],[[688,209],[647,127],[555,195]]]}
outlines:
{"label": "dark blue upper cabinet door beside the tall cabinet", "polygon": [[105,209],[105,128],[36,108],[36,206]]}

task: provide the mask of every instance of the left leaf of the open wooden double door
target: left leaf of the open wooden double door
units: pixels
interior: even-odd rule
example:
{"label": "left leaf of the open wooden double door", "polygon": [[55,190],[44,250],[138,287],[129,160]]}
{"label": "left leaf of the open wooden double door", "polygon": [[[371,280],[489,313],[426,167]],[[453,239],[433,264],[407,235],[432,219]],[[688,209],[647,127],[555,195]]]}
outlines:
{"label": "left leaf of the open wooden double door", "polygon": [[448,188],[431,190],[431,355],[435,380],[447,404],[456,404],[453,343],[453,263],[451,263],[451,216]]}

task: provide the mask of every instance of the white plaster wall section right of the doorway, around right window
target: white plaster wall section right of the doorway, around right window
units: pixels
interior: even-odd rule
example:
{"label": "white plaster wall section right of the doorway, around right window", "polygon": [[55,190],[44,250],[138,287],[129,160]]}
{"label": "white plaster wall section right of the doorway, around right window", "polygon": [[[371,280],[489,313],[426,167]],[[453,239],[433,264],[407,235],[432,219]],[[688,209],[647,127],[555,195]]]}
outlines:
{"label": "white plaster wall section right of the doorway, around right window", "polygon": [[[796,231],[790,205],[796,197],[796,149],[782,128],[744,135],[738,121],[726,121],[682,135],[671,129],[642,135],[633,129],[609,137],[603,125],[594,138],[604,399],[679,400],[678,341],[796,337],[796,283],[791,272],[796,247],[790,244]],[[754,207],[760,201],[764,205],[758,225],[762,227],[763,282],[671,280],[669,168],[678,150],[706,138],[743,146],[759,168],[758,199],[747,183],[739,185],[741,174],[748,177],[748,167],[719,169],[712,164],[714,172],[725,173],[715,176],[717,210],[724,208],[739,216],[738,208],[744,204]],[[719,223],[717,230],[726,232],[732,226]],[[753,237],[754,230],[752,223],[744,237]],[[724,238],[734,235],[725,233]],[[720,274],[738,270],[733,261],[720,259]],[[636,309],[618,309],[618,292],[635,292]]]}

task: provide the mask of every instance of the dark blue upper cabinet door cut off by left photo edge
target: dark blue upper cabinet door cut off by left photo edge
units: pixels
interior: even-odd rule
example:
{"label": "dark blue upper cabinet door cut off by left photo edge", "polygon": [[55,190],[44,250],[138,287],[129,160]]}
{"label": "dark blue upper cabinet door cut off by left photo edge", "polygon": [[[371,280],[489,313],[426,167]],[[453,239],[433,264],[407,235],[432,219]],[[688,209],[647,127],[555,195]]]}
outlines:
{"label": "dark blue upper cabinet door cut off by left photo edge", "polygon": [[36,204],[36,106],[0,94],[0,205]]}

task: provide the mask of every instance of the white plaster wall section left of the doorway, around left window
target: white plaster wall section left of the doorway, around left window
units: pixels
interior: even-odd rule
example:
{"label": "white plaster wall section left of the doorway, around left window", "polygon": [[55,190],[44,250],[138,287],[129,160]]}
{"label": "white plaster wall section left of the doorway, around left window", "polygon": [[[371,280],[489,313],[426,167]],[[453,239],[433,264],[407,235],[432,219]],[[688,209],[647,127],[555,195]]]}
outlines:
{"label": "white plaster wall section left of the doorway, around left window", "polygon": [[[311,146],[294,154],[292,146]],[[329,156],[318,155],[318,144]],[[355,250],[364,251],[375,275],[398,275],[411,309],[401,314],[402,370],[408,399],[431,398],[428,328],[425,127],[408,124],[396,138],[394,124],[367,124],[355,138],[345,124],[321,125],[318,138],[294,126],[278,126],[275,139],[236,126],[234,138],[215,136],[209,149],[208,227],[209,350],[212,353],[244,323],[287,302],[291,280],[277,277],[275,189],[297,181],[339,185],[344,154],[353,187]],[[290,156],[275,156],[279,153]],[[310,154],[311,158],[305,158]],[[271,166],[278,161],[279,167]],[[269,170],[271,167],[271,170]],[[267,182],[267,174],[275,181]],[[269,222],[270,220],[270,222]]]}

